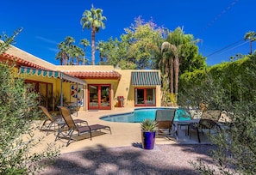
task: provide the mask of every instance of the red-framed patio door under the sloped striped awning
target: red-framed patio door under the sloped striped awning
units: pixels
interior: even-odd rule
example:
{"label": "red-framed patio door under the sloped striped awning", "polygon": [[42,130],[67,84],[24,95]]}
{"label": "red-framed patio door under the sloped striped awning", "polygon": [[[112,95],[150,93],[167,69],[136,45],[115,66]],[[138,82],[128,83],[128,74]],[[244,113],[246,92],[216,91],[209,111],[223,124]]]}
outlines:
{"label": "red-framed patio door under the sloped striped awning", "polygon": [[155,106],[155,88],[135,88],[134,106]]}

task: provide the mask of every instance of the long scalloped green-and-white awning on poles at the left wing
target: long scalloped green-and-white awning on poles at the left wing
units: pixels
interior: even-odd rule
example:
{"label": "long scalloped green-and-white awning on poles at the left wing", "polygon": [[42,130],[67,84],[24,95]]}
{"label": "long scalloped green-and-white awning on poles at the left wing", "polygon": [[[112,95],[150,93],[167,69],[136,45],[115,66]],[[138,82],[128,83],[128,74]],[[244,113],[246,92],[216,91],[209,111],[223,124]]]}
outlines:
{"label": "long scalloped green-and-white awning on poles at the left wing", "polygon": [[21,67],[19,69],[20,74],[30,74],[30,75],[42,75],[43,77],[53,77],[53,78],[59,78],[64,81],[71,81],[71,82],[78,82],[79,84],[85,85],[86,82],[83,80],[80,80],[72,75],[67,75],[60,71],[54,71],[54,70],[47,70],[47,69],[35,69],[35,68],[28,68],[28,67]]}

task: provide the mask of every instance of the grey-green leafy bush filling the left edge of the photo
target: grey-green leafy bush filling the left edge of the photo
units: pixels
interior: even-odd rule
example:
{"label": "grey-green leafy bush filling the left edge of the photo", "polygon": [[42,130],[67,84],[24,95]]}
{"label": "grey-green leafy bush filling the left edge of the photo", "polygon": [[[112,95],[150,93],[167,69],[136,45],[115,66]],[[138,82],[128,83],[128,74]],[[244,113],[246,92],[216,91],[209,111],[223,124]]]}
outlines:
{"label": "grey-green leafy bush filling the left edge of the photo", "polygon": [[[4,49],[0,48],[0,51]],[[39,127],[36,124],[40,116],[37,105],[37,94],[27,93],[15,67],[0,63],[0,174],[38,172],[42,168],[40,160],[59,154],[53,145],[40,153],[31,151],[43,142],[43,138],[34,136],[34,130]]]}

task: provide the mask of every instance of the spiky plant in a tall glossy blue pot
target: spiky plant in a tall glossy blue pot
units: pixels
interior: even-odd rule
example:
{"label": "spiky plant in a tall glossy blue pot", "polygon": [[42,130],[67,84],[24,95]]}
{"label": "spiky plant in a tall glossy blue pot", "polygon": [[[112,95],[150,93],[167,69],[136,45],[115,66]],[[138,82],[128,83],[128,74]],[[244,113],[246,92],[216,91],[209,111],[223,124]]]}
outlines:
{"label": "spiky plant in a tall glossy blue pot", "polygon": [[157,126],[158,123],[151,119],[145,119],[140,123],[142,148],[153,149]]}

